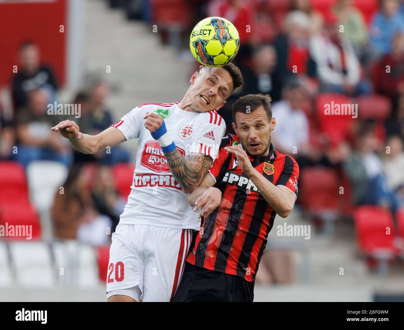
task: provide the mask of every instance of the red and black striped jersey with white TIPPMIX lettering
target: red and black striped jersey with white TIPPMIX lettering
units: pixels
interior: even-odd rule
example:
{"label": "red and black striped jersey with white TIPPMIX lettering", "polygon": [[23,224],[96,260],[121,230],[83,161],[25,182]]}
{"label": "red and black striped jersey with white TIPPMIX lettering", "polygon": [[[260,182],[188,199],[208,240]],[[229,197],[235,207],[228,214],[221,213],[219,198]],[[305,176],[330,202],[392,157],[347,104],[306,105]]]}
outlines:
{"label": "red and black striped jersey with white TIPPMIX lettering", "polygon": [[[222,200],[204,222],[187,261],[198,267],[239,275],[254,281],[259,260],[274,225],[276,212],[237,164],[226,146],[240,144],[236,135],[223,137],[210,175]],[[251,157],[252,166],[276,186],[285,186],[297,197],[299,167],[296,161],[273,149],[267,156]]]}

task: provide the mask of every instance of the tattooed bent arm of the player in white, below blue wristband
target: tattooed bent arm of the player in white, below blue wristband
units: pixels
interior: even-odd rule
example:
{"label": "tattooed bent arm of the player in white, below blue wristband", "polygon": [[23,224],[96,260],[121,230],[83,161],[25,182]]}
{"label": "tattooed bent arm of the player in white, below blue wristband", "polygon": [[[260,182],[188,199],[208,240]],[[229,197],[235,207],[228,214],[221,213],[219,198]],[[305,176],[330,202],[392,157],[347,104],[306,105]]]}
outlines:
{"label": "tattooed bent arm of the player in white, below blue wristband", "polygon": [[195,153],[187,160],[178,149],[165,156],[171,173],[185,192],[191,192],[200,184],[213,162],[212,157]]}

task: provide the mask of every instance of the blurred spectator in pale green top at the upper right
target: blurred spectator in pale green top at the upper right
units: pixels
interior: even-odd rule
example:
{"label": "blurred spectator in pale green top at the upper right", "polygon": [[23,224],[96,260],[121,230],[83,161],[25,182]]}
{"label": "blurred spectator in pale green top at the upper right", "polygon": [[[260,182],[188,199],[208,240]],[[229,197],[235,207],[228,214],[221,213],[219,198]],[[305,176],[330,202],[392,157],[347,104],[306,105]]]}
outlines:
{"label": "blurred spectator in pale green top at the upper right", "polygon": [[352,0],[338,0],[334,10],[343,25],[343,34],[361,59],[368,53],[368,30],[362,13],[352,5]]}

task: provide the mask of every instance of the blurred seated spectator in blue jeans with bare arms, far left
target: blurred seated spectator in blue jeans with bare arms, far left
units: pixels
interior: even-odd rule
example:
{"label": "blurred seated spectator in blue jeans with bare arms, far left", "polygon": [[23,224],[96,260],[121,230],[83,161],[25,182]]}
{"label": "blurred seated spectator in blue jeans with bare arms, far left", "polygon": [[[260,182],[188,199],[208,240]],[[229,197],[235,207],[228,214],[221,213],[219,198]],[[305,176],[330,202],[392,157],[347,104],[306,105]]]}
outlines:
{"label": "blurred seated spectator in blue jeans with bare arms, far left", "polygon": [[17,153],[15,160],[27,166],[30,161],[59,161],[69,166],[72,150],[59,134],[53,134],[50,127],[64,118],[47,112],[49,93],[47,89],[29,92],[27,106],[18,110],[16,116]]}

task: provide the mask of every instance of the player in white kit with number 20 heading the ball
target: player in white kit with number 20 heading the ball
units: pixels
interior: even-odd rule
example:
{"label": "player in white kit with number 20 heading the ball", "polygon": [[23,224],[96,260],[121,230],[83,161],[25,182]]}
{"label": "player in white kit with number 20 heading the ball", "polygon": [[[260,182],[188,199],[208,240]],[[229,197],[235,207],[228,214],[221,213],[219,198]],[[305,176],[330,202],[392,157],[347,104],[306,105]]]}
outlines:
{"label": "player in white kit with number 20 heading the ball", "polygon": [[98,135],[73,121],[52,128],[84,153],[138,139],[132,190],[112,235],[108,301],[170,301],[181,280],[191,231],[200,219],[187,201],[217,156],[225,123],[217,110],[242,85],[231,63],[203,67],[181,102],[142,104]]}

